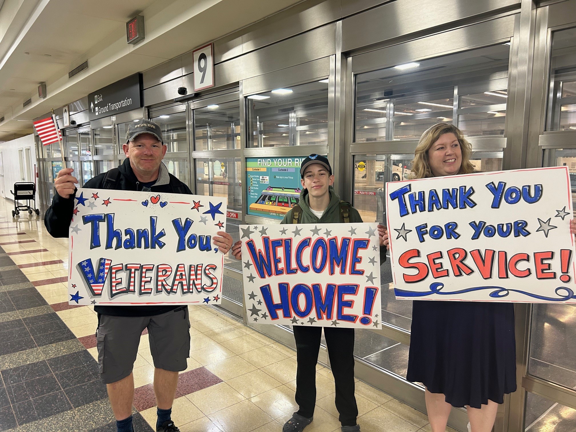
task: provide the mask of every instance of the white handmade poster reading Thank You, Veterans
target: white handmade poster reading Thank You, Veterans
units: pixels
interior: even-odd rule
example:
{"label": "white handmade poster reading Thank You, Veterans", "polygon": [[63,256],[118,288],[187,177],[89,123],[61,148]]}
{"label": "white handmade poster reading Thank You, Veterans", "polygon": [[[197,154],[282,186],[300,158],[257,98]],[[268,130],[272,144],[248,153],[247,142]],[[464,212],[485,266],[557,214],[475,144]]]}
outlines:
{"label": "white handmade poster reading Thank You, Veterans", "polygon": [[70,304],[219,304],[226,199],[78,189],[70,223]]}

